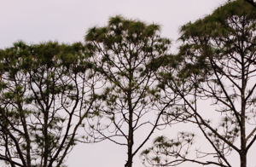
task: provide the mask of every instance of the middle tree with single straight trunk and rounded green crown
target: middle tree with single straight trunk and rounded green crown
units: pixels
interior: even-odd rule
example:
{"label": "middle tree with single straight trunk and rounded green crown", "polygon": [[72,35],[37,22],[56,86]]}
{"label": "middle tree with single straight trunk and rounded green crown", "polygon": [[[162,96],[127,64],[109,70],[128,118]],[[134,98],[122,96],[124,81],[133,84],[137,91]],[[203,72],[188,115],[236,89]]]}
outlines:
{"label": "middle tree with single straight trunk and rounded green crown", "polygon": [[[158,104],[154,71],[164,60],[159,58],[166,57],[170,41],[160,37],[160,26],[122,16],[110,18],[108,26],[91,28],[85,40],[96,71],[104,78],[104,90],[98,95],[102,105],[96,108],[102,117],[91,129],[99,134],[94,135],[96,141],[108,139],[125,145],[125,166],[131,167],[132,158],[160,125],[167,106]],[[141,129],[147,133],[142,134]],[[137,131],[141,143],[134,136]]]}

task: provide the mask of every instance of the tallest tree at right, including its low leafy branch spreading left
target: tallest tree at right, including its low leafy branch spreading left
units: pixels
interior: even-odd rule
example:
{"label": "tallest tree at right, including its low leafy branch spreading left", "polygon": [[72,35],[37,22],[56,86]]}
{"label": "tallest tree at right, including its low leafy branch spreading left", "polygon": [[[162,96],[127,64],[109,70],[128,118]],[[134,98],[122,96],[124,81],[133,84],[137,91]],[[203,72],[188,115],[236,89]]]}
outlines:
{"label": "tallest tree at right, including its low leafy branch spreading left", "polygon": [[[174,55],[177,72],[160,72],[165,89],[183,99],[181,107],[173,108],[168,116],[196,124],[212,150],[196,149],[195,157],[190,158],[194,134],[181,133],[172,140],[160,136],[154,147],[143,152],[149,164],[192,162],[230,167],[235,164],[228,156],[235,152],[240,166],[247,166],[248,150],[256,140],[255,12],[253,6],[237,0],[181,27],[183,45]],[[212,107],[200,107],[203,101],[210,101]],[[210,110],[221,118],[218,126],[206,116]]]}

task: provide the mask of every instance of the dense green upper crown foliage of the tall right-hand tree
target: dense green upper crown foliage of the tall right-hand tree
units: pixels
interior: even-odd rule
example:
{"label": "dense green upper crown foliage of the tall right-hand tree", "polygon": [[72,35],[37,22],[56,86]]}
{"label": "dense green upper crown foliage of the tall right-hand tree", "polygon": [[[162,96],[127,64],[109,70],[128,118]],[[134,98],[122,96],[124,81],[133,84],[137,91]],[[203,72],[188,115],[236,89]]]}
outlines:
{"label": "dense green upper crown foliage of the tall right-hand tree", "polygon": [[189,58],[187,63],[191,65],[181,70],[181,76],[209,74],[209,59],[228,58],[228,53],[238,56],[237,60],[241,60],[239,55],[244,54],[252,59],[255,51],[253,43],[256,42],[255,20],[256,8],[237,0],[224,4],[203,19],[181,26],[179,40],[184,44],[180,47],[177,60]]}

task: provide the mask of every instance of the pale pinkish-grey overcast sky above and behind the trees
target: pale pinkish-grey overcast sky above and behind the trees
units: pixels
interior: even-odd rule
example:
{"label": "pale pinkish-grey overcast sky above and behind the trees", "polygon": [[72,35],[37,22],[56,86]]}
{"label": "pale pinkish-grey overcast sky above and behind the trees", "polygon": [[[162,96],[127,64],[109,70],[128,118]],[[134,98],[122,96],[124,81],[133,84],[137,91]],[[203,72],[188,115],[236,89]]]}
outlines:
{"label": "pale pinkish-grey overcast sky above and behind the trees", "polygon": [[[108,18],[116,14],[160,24],[162,37],[169,37],[175,43],[179,26],[211,14],[213,9],[224,2],[225,0],[0,0],[0,49],[11,46],[17,40],[26,43],[49,40],[60,43],[84,41],[85,32],[90,27],[105,26]],[[172,136],[172,133],[168,134],[168,130],[165,133]],[[155,136],[151,138],[154,139]],[[151,143],[149,141],[147,146]],[[70,153],[67,164],[69,167],[120,167],[125,164],[126,152],[126,147],[117,146],[110,141],[94,145],[79,144]],[[134,167],[143,167],[138,155],[134,158]]]}

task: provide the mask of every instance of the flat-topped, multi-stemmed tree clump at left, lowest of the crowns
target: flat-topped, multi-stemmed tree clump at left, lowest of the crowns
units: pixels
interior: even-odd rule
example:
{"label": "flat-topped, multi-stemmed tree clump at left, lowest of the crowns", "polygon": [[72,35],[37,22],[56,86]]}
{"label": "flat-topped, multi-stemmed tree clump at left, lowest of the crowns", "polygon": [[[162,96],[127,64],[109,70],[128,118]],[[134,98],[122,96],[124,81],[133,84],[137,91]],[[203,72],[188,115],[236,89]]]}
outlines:
{"label": "flat-topped, multi-stemmed tree clump at left, lowest of the crowns", "polygon": [[95,101],[84,53],[82,43],[57,42],[0,50],[0,157],[11,166],[64,164]]}

